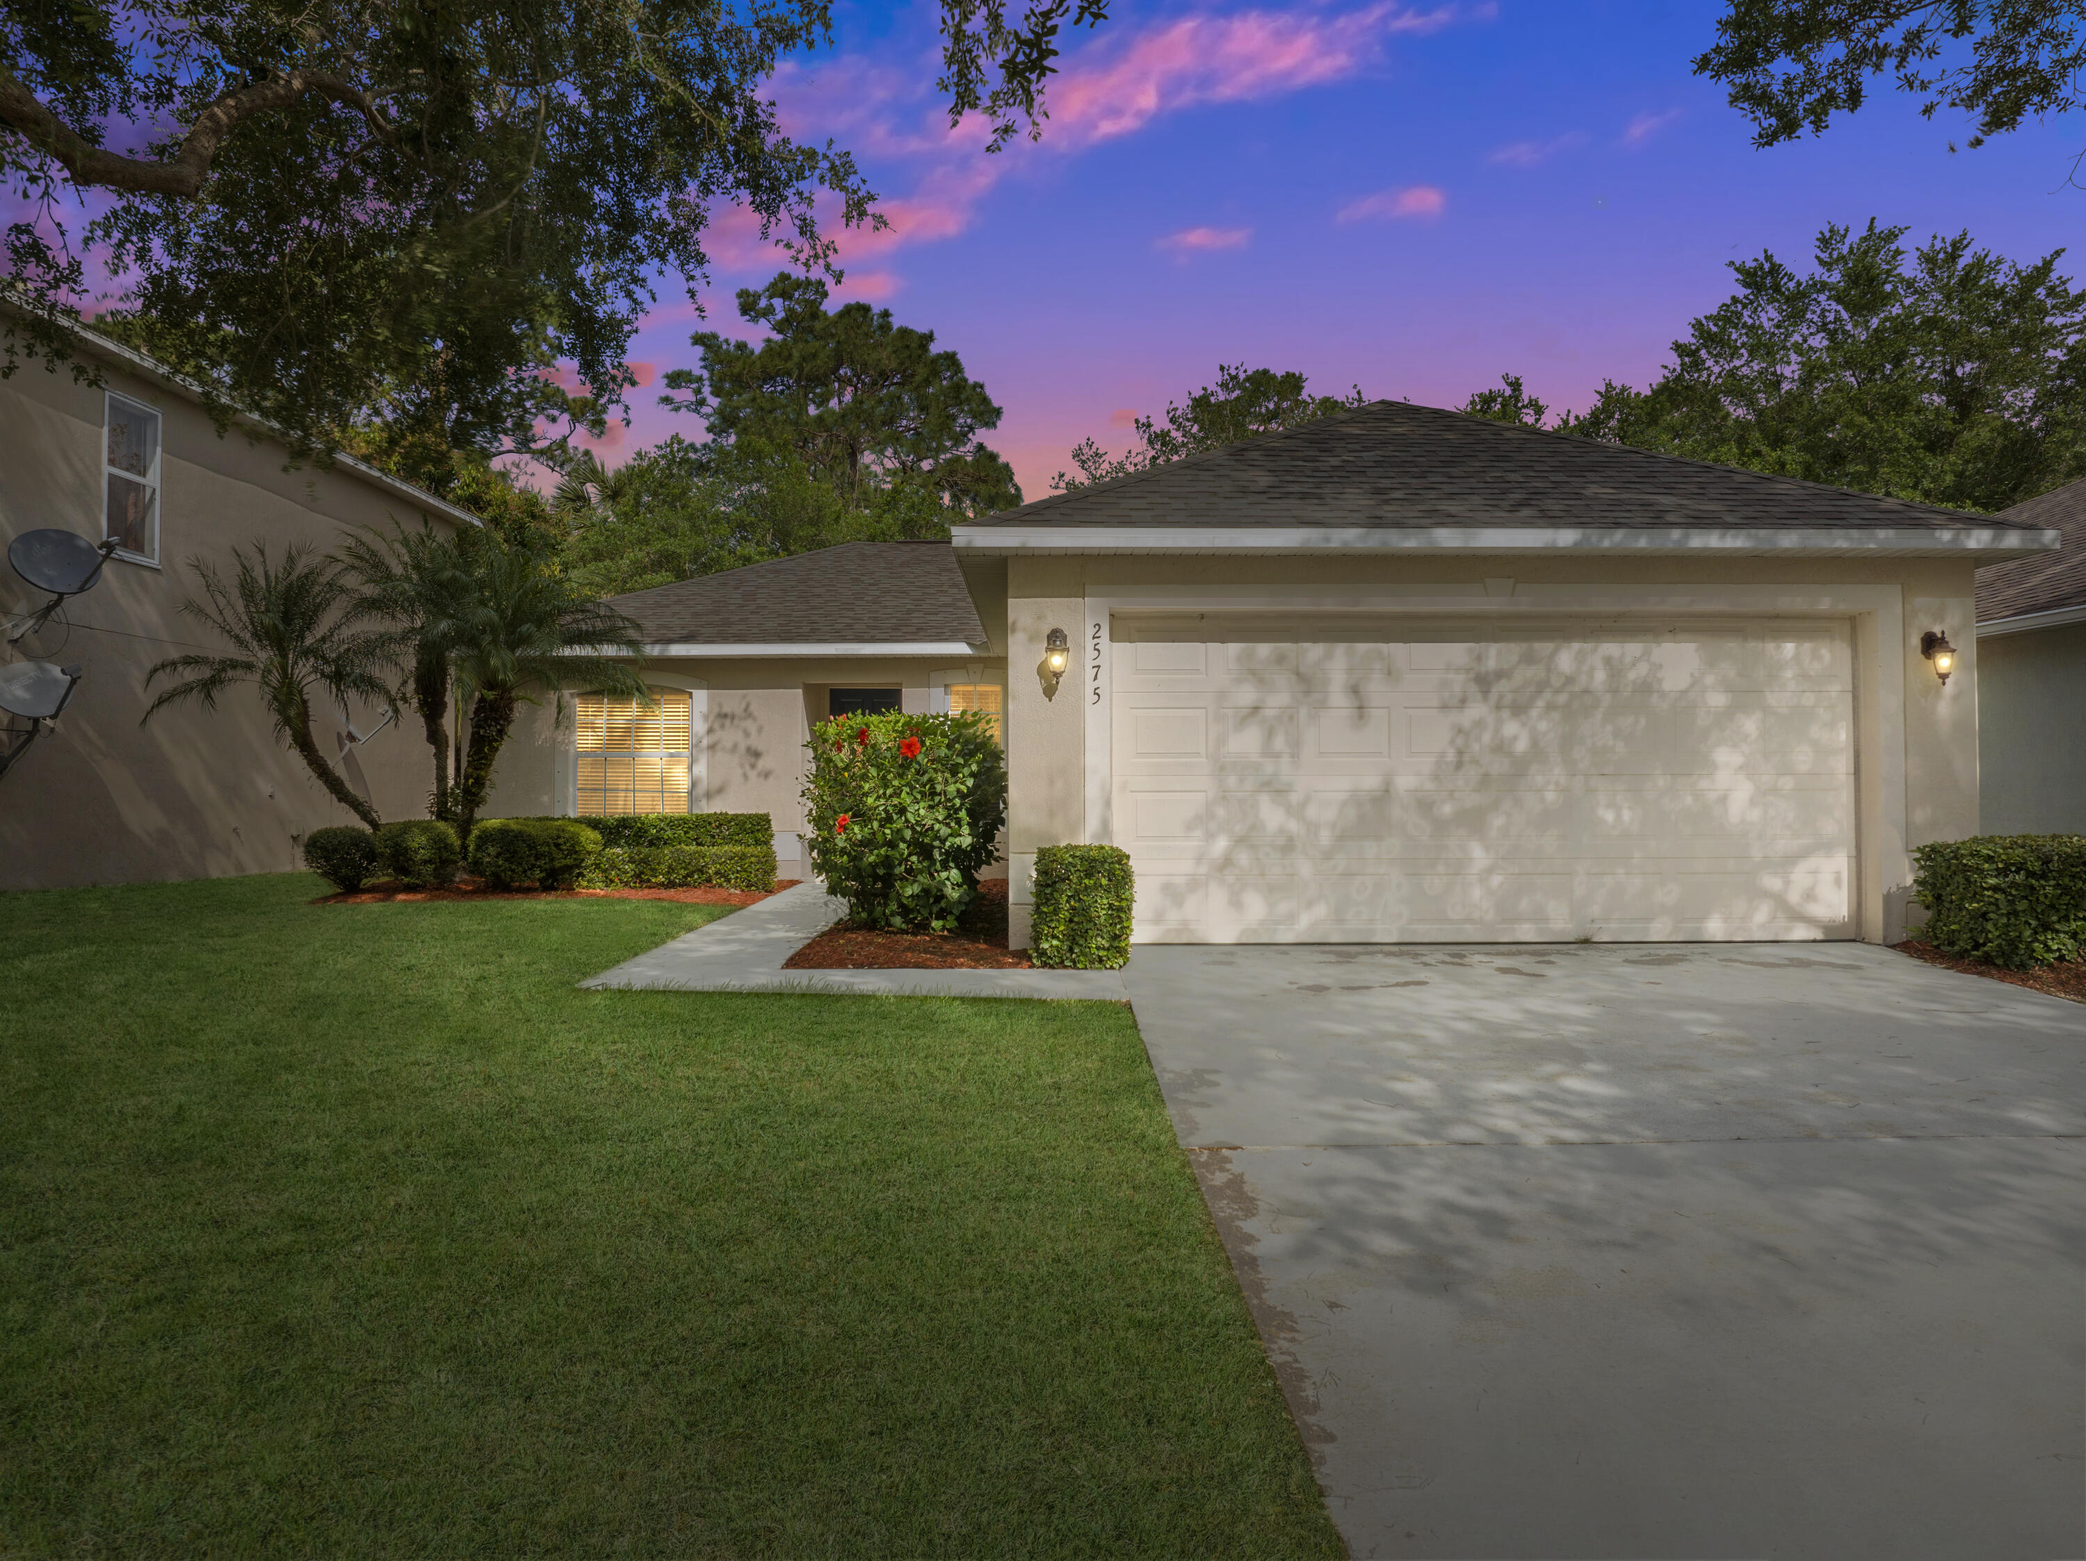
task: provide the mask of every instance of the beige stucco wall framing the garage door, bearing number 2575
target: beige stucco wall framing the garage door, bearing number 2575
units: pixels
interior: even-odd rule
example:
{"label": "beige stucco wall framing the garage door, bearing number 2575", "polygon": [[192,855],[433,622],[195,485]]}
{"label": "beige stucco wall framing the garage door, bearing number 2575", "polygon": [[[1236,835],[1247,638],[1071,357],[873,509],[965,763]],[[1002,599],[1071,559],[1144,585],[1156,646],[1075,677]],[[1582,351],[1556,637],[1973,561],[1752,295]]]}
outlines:
{"label": "beige stucco wall framing the garage door, bearing number 2575", "polygon": [[[1045,844],[1091,838],[1091,636],[1112,604],[1197,600],[1308,611],[1368,598],[1371,611],[1473,615],[1763,617],[1852,623],[1859,725],[1861,936],[1902,936],[1911,846],[1978,832],[1975,569],[1955,559],[1746,556],[1014,556],[1008,561],[1010,854],[1016,940],[1026,877]],[[1056,700],[1035,675],[1045,636],[1064,627],[1074,671]],[[1946,688],[1919,656],[1923,629],[1961,648]],[[1099,777],[1106,788],[1106,775]]]}

